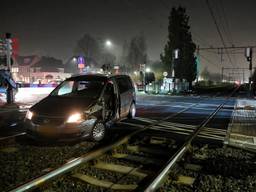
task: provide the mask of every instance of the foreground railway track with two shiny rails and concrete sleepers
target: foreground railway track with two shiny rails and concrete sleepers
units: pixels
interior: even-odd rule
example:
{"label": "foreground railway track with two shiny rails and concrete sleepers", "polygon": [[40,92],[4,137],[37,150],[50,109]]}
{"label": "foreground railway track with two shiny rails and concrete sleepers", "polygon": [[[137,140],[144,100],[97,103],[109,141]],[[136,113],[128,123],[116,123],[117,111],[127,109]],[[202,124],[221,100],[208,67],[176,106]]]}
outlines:
{"label": "foreground railway track with two shiny rails and concrete sleepers", "polygon": [[[140,119],[147,122],[146,125],[138,126],[121,122],[121,124],[137,126],[139,129],[115,143],[73,159],[12,191],[28,191],[35,188],[58,191],[58,186],[67,190],[71,187],[74,191],[85,189],[89,191],[136,189],[141,191],[141,186],[144,186],[146,191],[154,191],[197,136],[214,141],[224,140],[225,131],[206,128],[210,120],[222,109],[224,103],[219,105],[199,126],[167,121],[196,105],[198,104],[191,105],[158,121]],[[158,131],[158,134],[155,134],[155,131]],[[185,142],[173,139],[173,133],[187,135]],[[167,165],[166,162],[168,162]],[[161,171],[155,174],[159,170]],[[100,175],[100,178],[96,178],[95,175]],[[152,181],[150,185],[146,182],[149,180]]]}

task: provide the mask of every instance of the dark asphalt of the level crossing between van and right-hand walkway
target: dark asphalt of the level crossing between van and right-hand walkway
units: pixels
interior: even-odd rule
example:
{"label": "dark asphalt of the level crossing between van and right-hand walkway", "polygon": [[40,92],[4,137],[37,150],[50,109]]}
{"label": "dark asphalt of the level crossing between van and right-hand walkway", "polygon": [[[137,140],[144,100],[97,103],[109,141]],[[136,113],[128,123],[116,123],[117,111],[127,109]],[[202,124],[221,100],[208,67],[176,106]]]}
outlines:
{"label": "dark asphalt of the level crossing between van and right-hand walkway", "polygon": [[[161,119],[181,109],[191,107],[168,121],[187,125],[199,125],[225,101],[224,97],[146,96],[145,98],[141,97],[138,99],[137,115],[138,117],[149,119]],[[227,100],[224,108],[209,123],[208,127],[226,129],[234,109],[234,104],[234,98]]]}

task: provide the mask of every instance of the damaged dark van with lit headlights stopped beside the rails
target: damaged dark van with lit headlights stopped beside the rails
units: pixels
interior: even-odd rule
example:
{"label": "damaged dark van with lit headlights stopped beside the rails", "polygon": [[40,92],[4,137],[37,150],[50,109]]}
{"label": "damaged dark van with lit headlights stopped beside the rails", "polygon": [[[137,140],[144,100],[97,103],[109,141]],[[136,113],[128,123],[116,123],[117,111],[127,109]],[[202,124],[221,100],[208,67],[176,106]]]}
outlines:
{"label": "damaged dark van with lit headlights stopped beside the rails", "polygon": [[33,138],[100,141],[107,125],[136,113],[135,89],[127,75],[87,74],[70,77],[26,114]]}

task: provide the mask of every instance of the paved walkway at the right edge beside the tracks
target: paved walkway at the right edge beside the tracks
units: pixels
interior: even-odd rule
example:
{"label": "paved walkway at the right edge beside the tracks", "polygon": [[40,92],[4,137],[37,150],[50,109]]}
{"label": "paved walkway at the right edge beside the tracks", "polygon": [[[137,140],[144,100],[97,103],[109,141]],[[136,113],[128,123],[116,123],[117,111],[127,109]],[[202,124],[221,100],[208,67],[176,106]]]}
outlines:
{"label": "paved walkway at the right edge beside the tracks", "polygon": [[236,101],[225,144],[256,151],[256,100]]}

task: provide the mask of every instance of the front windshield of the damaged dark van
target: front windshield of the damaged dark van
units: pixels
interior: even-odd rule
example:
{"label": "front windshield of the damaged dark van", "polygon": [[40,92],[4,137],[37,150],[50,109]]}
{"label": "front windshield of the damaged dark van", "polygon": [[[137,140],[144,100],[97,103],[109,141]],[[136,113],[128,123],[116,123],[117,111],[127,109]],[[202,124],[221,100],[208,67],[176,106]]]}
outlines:
{"label": "front windshield of the damaged dark van", "polygon": [[51,93],[51,96],[98,98],[104,82],[95,80],[66,80]]}

